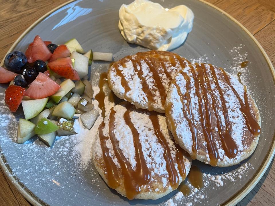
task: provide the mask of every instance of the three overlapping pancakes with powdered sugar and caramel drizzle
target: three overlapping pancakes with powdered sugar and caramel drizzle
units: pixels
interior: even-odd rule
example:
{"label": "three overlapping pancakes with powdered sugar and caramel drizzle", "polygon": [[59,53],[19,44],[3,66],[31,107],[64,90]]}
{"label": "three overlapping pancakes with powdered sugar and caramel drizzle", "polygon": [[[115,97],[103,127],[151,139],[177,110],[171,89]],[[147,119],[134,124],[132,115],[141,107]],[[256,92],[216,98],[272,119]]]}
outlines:
{"label": "three overlapping pancakes with powdered sugar and caramel drizzle", "polygon": [[99,126],[93,162],[128,199],[168,194],[184,181],[192,159],[227,167],[258,144],[257,105],[221,68],[168,51],[139,52],[115,62],[108,82],[126,102]]}

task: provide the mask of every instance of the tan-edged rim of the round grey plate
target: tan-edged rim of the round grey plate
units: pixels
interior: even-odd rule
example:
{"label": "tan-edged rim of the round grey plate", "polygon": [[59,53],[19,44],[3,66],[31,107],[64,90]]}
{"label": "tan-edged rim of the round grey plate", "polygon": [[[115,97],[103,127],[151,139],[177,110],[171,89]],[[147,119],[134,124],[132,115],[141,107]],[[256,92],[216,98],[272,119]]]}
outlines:
{"label": "tan-edged rim of the round grey plate", "polygon": [[[42,17],[40,17],[39,19],[37,19],[34,23],[32,23],[32,25],[30,25],[16,40],[15,42],[11,45],[11,47],[9,48],[9,50],[7,51],[6,55],[8,53],[10,53],[13,48],[17,45],[17,43],[34,27],[36,26],[38,23],[40,23],[43,19],[45,19],[47,16],[49,16],[50,14],[52,14],[54,11],[60,9],[61,7],[73,2],[76,0],[69,0],[57,7],[55,7],[54,9],[52,9],[51,11],[47,12],[46,14],[44,14]],[[218,10],[219,12],[221,12],[222,14],[224,14],[227,18],[229,18],[231,21],[235,22],[239,27],[241,27],[241,29],[243,29],[243,31],[245,31],[245,33],[247,33],[247,35],[254,41],[254,43],[256,43],[256,45],[259,47],[260,51],[262,52],[262,55],[264,56],[266,63],[269,66],[269,70],[272,74],[272,78],[273,78],[273,82],[275,85],[275,70],[273,67],[273,64],[270,60],[270,58],[268,57],[268,55],[266,54],[265,50],[263,49],[263,47],[260,45],[260,43],[258,42],[258,40],[250,33],[250,31],[248,31],[239,21],[237,21],[234,17],[232,17],[231,15],[229,15],[228,13],[226,13],[225,11],[223,11],[222,9],[220,9],[219,7],[204,1],[204,0],[197,0],[197,1],[201,1],[202,3],[205,3],[209,6],[211,6],[212,8]],[[5,55],[5,56],[6,56]],[[0,63],[0,66],[4,65],[4,60],[5,58],[3,58],[3,60]],[[270,147],[270,150],[268,151],[268,154],[265,157],[264,163],[260,166],[260,168],[258,169],[258,171],[256,172],[256,175],[254,175],[253,178],[251,178],[251,180],[242,187],[242,189],[239,191],[239,193],[237,192],[236,195],[232,196],[227,202],[224,202],[222,205],[223,206],[233,206],[235,204],[237,204],[239,201],[241,201],[255,186],[256,184],[260,181],[260,179],[262,178],[262,176],[264,175],[264,173],[266,172],[266,170],[268,169],[273,157],[275,154],[275,132],[273,134],[273,140],[272,140],[272,146]],[[3,171],[3,173],[5,174],[6,178],[9,179],[9,181],[13,184],[13,186],[17,189],[17,191],[19,191],[19,193],[21,195],[23,195],[23,197],[25,197],[25,199],[27,199],[27,201],[29,201],[32,205],[34,206],[50,206],[47,203],[45,203],[44,201],[42,201],[40,198],[38,198],[34,193],[32,193],[32,191],[28,190],[27,187],[25,187],[25,185],[23,183],[19,183],[17,180],[19,180],[19,178],[17,176],[13,176],[11,175],[11,168],[9,167],[9,163],[6,161],[6,158],[3,154],[3,151],[1,149],[0,146],[0,167]],[[25,189],[23,189],[25,188]]]}

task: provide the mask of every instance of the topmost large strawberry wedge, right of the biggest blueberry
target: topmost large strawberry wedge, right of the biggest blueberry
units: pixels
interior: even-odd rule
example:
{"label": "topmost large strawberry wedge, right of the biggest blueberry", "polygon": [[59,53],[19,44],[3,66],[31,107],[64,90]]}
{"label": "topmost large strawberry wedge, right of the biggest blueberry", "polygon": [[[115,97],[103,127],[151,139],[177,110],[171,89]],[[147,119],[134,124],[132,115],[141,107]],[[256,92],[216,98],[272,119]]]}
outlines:
{"label": "topmost large strawberry wedge, right of the biggest blueberry", "polygon": [[34,38],[34,42],[30,43],[28,46],[25,55],[28,58],[29,63],[33,63],[36,60],[43,60],[44,62],[49,60],[52,56],[52,53],[48,49],[47,45],[42,41],[40,36]]}

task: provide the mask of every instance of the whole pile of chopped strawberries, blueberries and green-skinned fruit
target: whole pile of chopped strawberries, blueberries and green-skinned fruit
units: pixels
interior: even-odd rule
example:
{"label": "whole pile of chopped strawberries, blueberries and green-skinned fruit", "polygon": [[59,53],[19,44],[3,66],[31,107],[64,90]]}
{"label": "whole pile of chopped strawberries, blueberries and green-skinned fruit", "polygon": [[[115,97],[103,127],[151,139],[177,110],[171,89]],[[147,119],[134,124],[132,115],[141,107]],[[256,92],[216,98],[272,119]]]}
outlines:
{"label": "whole pile of chopped strawberries, blueberries and green-skinned fruit", "polygon": [[56,135],[76,134],[74,120],[91,129],[99,112],[94,109],[93,88],[88,79],[93,60],[112,61],[112,53],[85,53],[76,39],[62,45],[36,36],[28,49],[13,51],[0,66],[0,83],[9,83],[5,103],[11,112],[22,104],[17,142],[37,135],[51,146]]}

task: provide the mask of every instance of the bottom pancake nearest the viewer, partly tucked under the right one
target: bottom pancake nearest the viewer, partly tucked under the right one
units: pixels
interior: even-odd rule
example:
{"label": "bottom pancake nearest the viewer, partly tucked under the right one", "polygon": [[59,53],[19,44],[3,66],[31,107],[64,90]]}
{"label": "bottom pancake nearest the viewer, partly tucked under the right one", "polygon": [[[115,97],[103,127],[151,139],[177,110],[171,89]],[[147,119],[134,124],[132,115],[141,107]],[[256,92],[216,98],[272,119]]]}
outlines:
{"label": "bottom pancake nearest the viewer, partly tucked under the right one", "polygon": [[111,108],[101,125],[93,163],[109,187],[128,199],[158,199],[185,179],[191,157],[174,143],[163,114],[129,102]]}

